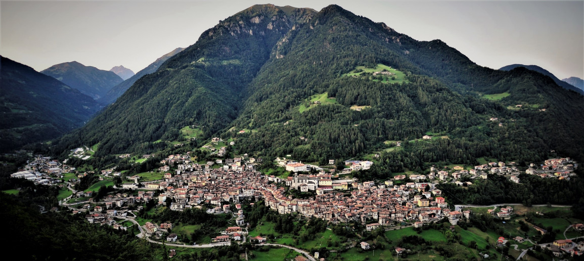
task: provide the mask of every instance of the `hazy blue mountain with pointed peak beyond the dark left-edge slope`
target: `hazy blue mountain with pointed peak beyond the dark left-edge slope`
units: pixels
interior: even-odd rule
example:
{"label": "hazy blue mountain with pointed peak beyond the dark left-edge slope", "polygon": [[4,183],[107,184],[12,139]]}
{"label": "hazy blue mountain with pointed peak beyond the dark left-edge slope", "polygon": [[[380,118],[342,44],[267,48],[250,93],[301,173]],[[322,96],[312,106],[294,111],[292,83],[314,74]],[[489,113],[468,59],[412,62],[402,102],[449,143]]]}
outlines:
{"label": "hazy blue mountain with pointed peak beyond the dark left-edge slope", "polygon": [[41,70],[41,73],[84,93],[94,100],[103,97],[112,87],[123,82],[116,73],[85,66],[79,62],[64,62]]}

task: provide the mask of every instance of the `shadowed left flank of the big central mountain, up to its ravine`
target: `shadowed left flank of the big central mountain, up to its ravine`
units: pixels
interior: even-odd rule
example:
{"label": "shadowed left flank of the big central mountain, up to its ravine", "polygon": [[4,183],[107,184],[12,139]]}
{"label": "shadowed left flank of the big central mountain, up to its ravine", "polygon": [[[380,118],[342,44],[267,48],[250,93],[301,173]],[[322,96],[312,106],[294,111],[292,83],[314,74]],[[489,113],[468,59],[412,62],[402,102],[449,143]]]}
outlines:
{"label": "shadowed left flank of the big central mountain, up to its ravine", "polygon": [[206,136],[220,131],[237,117],[239,93],[269,59],[277,41],[312,13],[263,5],[228,17],[157,72],[137,80],[116,103],[60,144],[99,142],[96,155],[105,156],[151,150],[152,142],[175,139],[186,125],[201,125]]}

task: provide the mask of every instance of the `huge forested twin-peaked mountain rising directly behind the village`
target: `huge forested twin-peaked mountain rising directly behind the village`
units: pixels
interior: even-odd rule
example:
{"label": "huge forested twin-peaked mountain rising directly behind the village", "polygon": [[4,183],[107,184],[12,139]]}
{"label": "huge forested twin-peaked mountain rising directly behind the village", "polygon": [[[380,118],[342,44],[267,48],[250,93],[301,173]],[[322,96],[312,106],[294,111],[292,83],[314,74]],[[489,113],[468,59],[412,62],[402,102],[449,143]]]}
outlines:
{"label": "huge forested twin-peaked mountain rising directly behind the village", "polygon": [[[337,5],[255,5],[141,77],[55,150],[150,153],[198,125],[203,139],[237,140],[239,153],[319,163],[380,154],[391,172],[480,157],[526,164],[552,149],[584,159],[583,100],[541,73],[478,66],[443,41]],[[426,133],[438,139],[414,142]]]}

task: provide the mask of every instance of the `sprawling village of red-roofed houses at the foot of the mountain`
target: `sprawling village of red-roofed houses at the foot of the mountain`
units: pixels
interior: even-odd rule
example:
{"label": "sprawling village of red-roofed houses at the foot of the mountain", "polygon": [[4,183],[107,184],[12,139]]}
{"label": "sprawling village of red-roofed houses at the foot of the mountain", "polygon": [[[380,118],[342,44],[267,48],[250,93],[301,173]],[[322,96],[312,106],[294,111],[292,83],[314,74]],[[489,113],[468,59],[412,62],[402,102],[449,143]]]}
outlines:
{"label": "sprawling village of red-roofed houses at the foot of the mountain", "polygon": [[[215,142],[218,142],[216,140]],[[222,149],[224,150],[224,149]],[[216,151],[224,153],[224,151]],[[143,158],[151,155],[143,155]],[[434,186],[439,182],[453,182],[459,186],[472,186],[472,182],[461,182],[462,177],[470,179],[485,179],[489,175],[506,175],[510,181],[520,183],[520,174],[539,175],[543,178],[569,179],[577,167],[570,158],[552,158],[538,167],[530,164],[525,171],[520,171],[515,163],[491,162],[463,167],[456,165],[439,170],[436,165],[430,167],[429,174],[395,175],[386,181],[359,181],[357,178],[339,178],[339,173],[329,169],[300,163],[287,158],[277,158],[275,163],[285,167],[292,176],[282,178],[274,175],[264,175],[256,171],[261,158],[241,157],[217,159],[199,164],[192,161],[189,155],[173,154],[161,160],[164,164],[158,171],[166,172],[164,178],[141,182],[139,175],[127,175],[126,182],[119,189],[138,189],[137,195],[131,193],[113,193],[105,196],[103,202],[92,202],[92,198],[84,204],[79,204],[79,210],[89,210],[86,214],[89,223],[112,225],[117,229],[126,227],[116,223],[114,217],[126,218],[132,209],[140,210],[142,204],[157,200],[158,204],[167,204],[171,210],[182,211],[200,208],[203,205],[212,206],[208,213],[230,213],[235,204],[237,225],[245,227],[248,224],[240,202],[258,202],[263,200],[265,206],[279,214],[296,213],[310,218],[317,217],[331,224],[359,222],[367,231],[378,227],[392,227],[398,224],[410,223],[416,228],[440,220],[447,220],[456,225],[461,218],[468,219],[471,211],[450,209],[442,195],[442,191]],[[335,160],[330,160],[333,165]],[[372,161],[347,160],[346,170],[367,170]],[[470,168],[470,170],[468,170]],[[171,171],[172,170],[172,171]],[[75,168],[64,163],[50,160],[37,155],[35,160],[27,164],[26,170],[12,174],[15,178],[26,178],[38,184],[54,184],[64,186],[64,173],[74,172]],[[121,172],[104,170],[100,172],[100,180],[121,176]],[[88,172],[78,172],[67,182],[75,184],[78,179],[88,175]],[[408,179],[411,182],[404,182]],[[300,192],[314,193],[314,197],[305,199],[286,195],[288,189]],[[95,191],[75,191],[71,197],[91,197]],[[128,209],[128,207],[130,207]],[[491,213],[496,217],[506,219],[513,214],[512,207],[502,208]],[[233,227],[225,235],[214,238],[214,242],[224,242],[229,239],[242,239],[244,228]],[[157,234],[162,237],[172,224],[144,225],[148,235]],[[167,233],[168,234],[168,233]],[[176,234],[169,235],[173,239]],[[256,238],[257,239],[257,238]]]}

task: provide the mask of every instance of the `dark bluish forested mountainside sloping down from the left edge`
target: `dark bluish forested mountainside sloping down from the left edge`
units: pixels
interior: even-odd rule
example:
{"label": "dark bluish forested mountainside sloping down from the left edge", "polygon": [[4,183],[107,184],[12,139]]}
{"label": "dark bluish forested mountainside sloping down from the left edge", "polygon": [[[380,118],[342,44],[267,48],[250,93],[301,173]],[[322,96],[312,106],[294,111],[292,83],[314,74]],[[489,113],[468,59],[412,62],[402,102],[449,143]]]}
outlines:
{"label": "dark bluish forested mountainside sloping down from the left edge", "polygon": [[53,139],[99,109],[89,96],[29,66],[0,57],[0,151]]}

